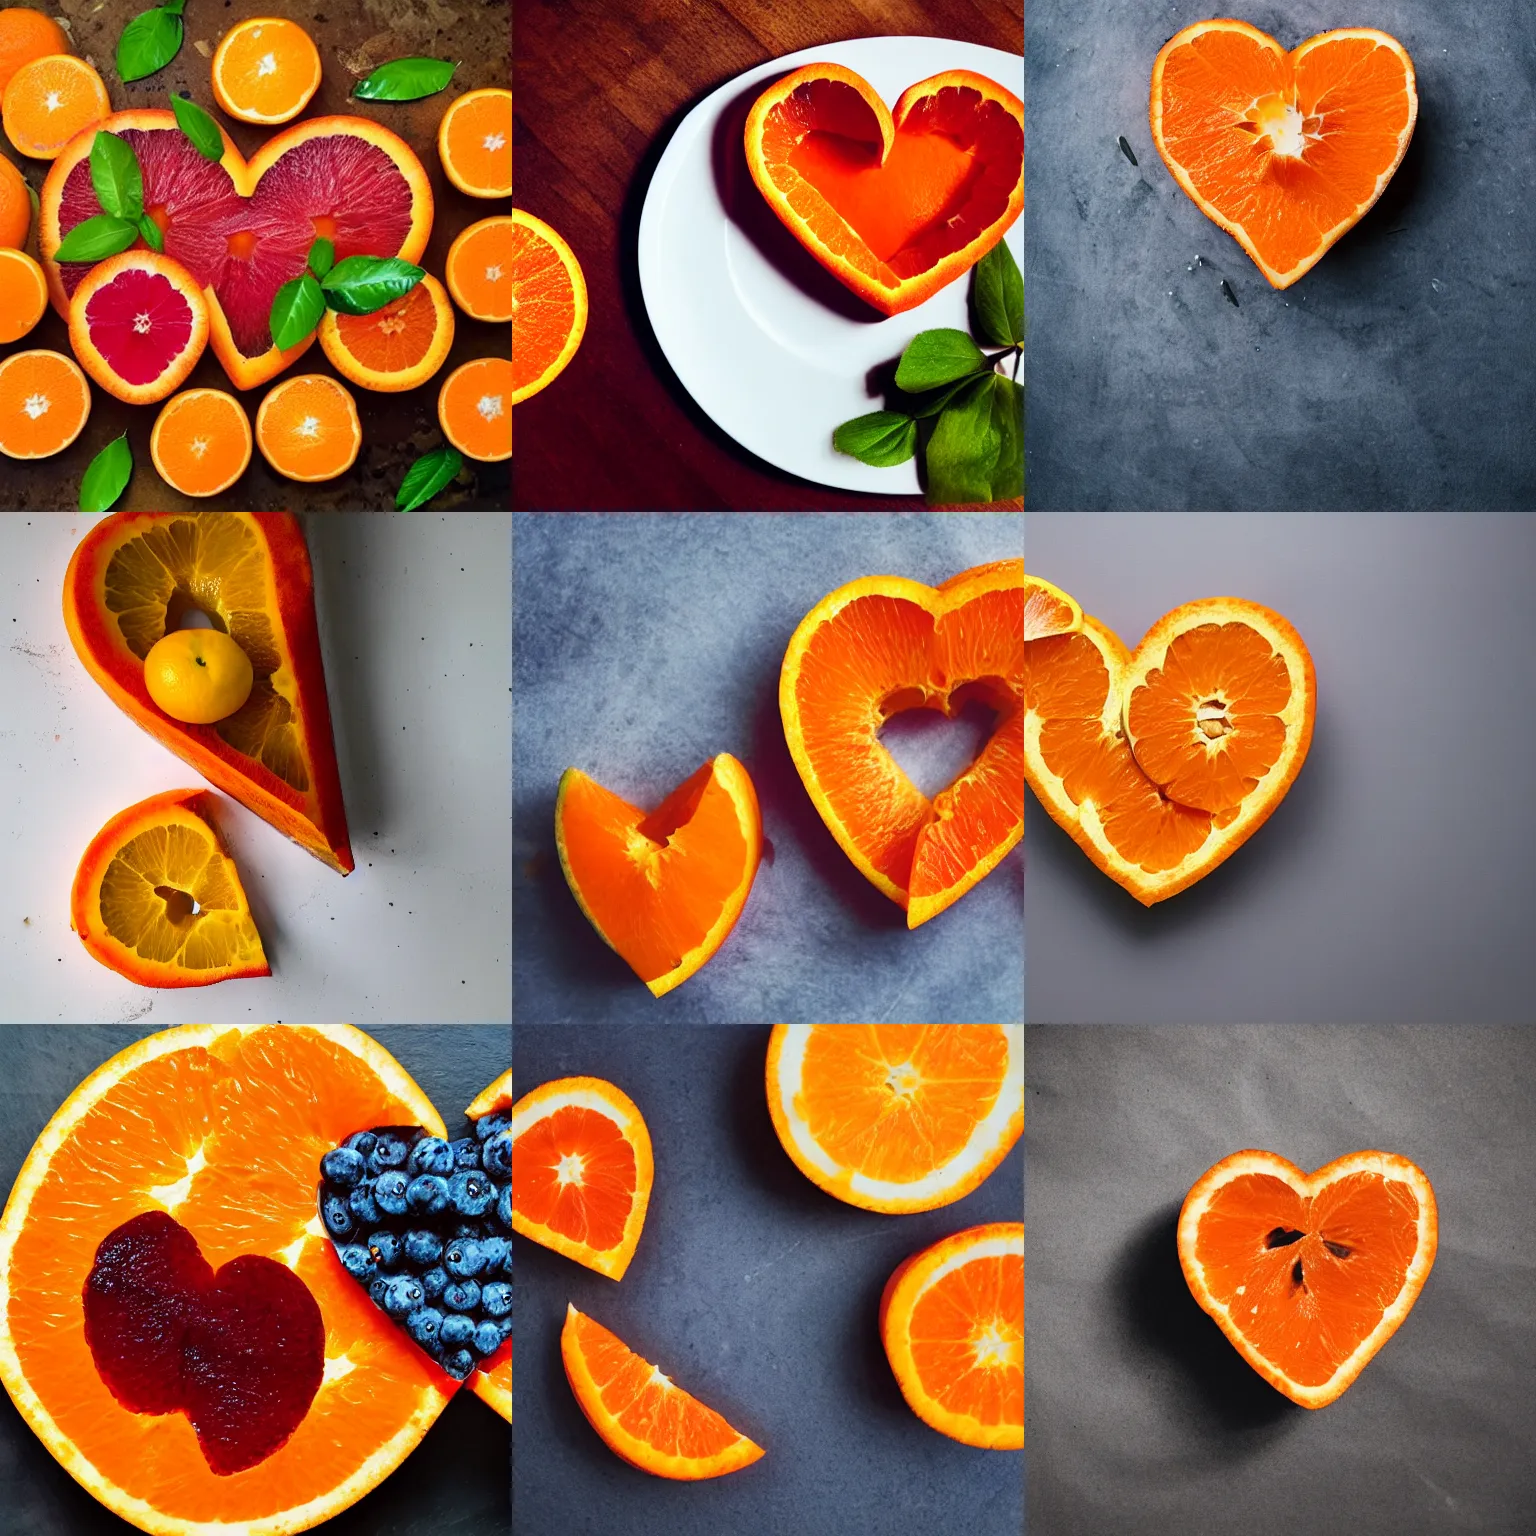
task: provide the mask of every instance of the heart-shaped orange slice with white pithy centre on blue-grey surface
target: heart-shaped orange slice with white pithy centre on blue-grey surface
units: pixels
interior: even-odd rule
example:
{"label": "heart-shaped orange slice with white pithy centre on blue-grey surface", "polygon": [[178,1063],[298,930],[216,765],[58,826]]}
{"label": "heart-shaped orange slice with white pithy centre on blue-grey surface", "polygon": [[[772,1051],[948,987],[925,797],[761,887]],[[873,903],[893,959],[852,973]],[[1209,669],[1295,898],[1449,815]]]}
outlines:
{"label": "heart-shaped orange slice with white pithy centre on blue-grey surface", "polygon": [[1152,66],[1152,138],[1178,184],[1278,289],[1369,212],[1419,115],[1413,60],[1373,28],[1286,52],[1247,22],[1197,22]]}

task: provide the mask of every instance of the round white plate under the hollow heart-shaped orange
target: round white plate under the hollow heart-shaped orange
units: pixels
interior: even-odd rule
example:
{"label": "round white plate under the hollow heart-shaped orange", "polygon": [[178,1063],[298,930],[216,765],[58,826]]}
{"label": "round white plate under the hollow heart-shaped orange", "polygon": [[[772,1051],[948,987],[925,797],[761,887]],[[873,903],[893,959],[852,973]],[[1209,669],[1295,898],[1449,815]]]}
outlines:
{"label": "round white plate under the hollow heart-shaped orange", "polygon": [[[899,358],[920,330],[969,329],[969,273],[926,304],[882,319],[829,273],[819,290],[831,292],[834,301],[842,290],[846,303],[834,309],[808,293],[751,232],[762,232],[780,250],[782,241],[794,243],[746,169],[739,137],[746,109],[771,80],[823,60],[859,71],[886,106],[945,69],[971,69],[1017,97],[1025,92],[1020,55],[938,37],[826,43],[748,69],[705,97],[662,152],[641,212],[641,290],[673,372],[743,447],[822,485],[915,495],[915,461],[883,470],[860,464],[833,449],[833,430],[885,409],[866,375]],[[1023,269],[1021,218],[1005,240]],[[816,266],[808,252],[805,263]]]}

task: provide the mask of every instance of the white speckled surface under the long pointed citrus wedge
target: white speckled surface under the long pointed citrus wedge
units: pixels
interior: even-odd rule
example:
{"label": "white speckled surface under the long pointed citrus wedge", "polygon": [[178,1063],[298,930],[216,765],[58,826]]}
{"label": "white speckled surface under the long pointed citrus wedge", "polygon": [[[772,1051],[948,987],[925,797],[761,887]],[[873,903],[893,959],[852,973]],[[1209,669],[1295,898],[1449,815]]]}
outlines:
{"label": "white speckled surface under the long pointed citrus wedge", "polygon": [[86,954],[69,886],[124,806],[204,786],[86,673],[60,607],[94,519],[0,516],[0,1018],[459,1023],[511,1009],[505,513],[312,513],[353,874],[244,806],[220,825],[273,975],[157,991]]}

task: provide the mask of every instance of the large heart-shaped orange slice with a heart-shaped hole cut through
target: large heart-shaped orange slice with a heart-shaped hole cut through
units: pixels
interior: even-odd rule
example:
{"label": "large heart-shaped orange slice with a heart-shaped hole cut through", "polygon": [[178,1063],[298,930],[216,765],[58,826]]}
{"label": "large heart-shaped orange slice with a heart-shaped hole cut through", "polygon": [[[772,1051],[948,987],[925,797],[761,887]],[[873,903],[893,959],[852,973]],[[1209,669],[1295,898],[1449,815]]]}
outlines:
{"label": "large heart-shaped orange slice with a heart-shaped hole cut through", "polygon": [[[790,754],[811,802],[859,872],[906,909],[937,917],[1025,831],[1025,562],[997,561],[925,587],[866,576],[802,621],[779,679]],[[880,742],[903,710],[954,714],[980,699],[992,737],[928,799]]]}

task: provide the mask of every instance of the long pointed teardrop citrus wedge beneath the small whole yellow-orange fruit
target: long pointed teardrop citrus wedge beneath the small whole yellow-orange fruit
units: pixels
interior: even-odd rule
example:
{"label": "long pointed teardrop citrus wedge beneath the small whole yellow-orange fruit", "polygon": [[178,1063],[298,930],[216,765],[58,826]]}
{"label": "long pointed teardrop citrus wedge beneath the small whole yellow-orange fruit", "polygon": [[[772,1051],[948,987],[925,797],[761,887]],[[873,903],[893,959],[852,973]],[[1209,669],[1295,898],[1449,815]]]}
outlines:
{"label": "long pointed teardrop citrus wedge beneath the small whole yellow-orange fruit", "polygon": [[[144,687],[144,657],[190,610],[255,671],[244,708],[217,725],[167,719]],[[129,719],[332,869],[352,869],[313,578],[290,513],[114,513],[75,547],[65,624]]]}

